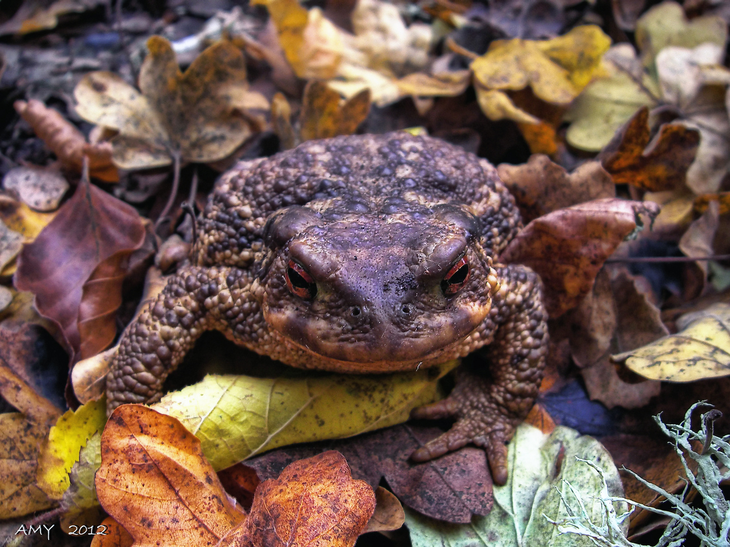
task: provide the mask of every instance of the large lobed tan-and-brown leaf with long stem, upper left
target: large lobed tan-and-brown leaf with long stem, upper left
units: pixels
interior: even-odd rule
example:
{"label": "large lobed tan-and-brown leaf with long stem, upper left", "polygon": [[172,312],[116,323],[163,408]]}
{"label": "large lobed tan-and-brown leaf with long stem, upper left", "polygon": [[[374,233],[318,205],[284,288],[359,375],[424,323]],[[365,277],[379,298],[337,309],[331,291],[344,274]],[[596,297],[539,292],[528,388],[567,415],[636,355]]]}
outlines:
{"label": "large lobed tan-and-brown leaf with long stem, upper left", "polygon": [[140,93],[117,74],[91,72],[76,86],[77,112],[119,132],[112,159],[126,169],[226,158],[260,123],[239,108],[247,93],[246,63],[230,42],[204,50],[182,73],[170,42],[147,40]]}

